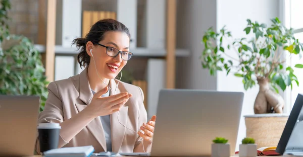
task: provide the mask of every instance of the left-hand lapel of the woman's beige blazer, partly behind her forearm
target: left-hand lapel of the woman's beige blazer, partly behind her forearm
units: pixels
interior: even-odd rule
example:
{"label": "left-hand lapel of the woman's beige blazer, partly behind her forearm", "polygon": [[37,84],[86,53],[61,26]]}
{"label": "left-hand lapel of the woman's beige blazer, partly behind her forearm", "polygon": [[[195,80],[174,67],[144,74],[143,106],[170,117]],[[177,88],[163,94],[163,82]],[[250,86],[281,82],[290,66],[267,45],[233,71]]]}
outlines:
{"label": "left-hand lapel of the woman's beige blazer, partly behind her forearm", "polygon": [[[79,88],[79,99],[85,103],[85,105],[75,104],[78,111],[81,112],[85,107],[87,107],[91,99],[93,97],[89,82],[87,79],[87,68],[85,68],[80,73],[80,80],[79,80],[80,88]],[[100,143],[105,151],[107,151],[106,146],[106,139],[104,129],[99,117],[93,119],[88,125],[86,126],[91,134],[96,138],[96,140]]]}

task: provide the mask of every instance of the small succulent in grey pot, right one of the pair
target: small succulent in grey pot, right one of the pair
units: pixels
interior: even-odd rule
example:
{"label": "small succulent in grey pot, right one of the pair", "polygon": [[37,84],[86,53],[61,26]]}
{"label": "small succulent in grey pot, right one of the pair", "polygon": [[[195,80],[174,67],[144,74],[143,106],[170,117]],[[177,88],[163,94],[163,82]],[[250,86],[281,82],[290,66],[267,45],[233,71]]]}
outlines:
{"label": "small succulent in grey pot, right one of the pair", "polygon": [[239,147],[240,157],[256,157],[258,156],[257,144],[254,138],[245,137],[242,139],[242,144]]}

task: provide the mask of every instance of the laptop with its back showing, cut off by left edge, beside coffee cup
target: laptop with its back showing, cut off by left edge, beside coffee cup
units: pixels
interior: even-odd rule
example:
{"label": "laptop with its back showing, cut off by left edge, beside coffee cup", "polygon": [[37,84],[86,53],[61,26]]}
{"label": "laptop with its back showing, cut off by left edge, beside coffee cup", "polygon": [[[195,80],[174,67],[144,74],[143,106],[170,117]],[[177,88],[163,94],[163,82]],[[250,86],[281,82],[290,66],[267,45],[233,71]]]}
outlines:
{"label": "laptop with its back showing, cut off by left edge, beside coffee cup", "polygon": [[0,95],[0,156],[34,154],[39,97]]}

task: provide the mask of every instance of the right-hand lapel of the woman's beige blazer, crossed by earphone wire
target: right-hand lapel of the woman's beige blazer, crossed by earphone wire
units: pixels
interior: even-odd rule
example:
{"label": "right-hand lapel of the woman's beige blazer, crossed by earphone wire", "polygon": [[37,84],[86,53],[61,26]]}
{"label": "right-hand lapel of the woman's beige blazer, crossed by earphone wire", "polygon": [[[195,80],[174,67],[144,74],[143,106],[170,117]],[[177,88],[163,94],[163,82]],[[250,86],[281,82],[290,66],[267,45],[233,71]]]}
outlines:
{"label": "right-hand lapel of the woman's beige blazer, crossed by earphone wire", "polygon": [[[114,80],[111,80],[111,89],[115,92],[117,84]],[[117,88],[115,94],[121,93]],[[127,112],[128,106],[123,106],[120,112],[115,112],[111,115],[111,130],[112,130],[112,150],[113,152],[119,152],[122,141],[124,139],[125,130],[127,124]],[[119,119],[118,119],[119,118]]]}

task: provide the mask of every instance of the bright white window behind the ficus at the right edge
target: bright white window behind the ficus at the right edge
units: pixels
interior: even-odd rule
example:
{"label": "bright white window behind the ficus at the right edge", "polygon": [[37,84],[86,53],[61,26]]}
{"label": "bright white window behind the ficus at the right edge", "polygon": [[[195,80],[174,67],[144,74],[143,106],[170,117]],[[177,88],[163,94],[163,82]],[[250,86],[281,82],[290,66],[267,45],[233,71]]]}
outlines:
{"label": "bright white window behind the ficus at the right edge", "polygon": [[[285,26],[294,29],[294,37],[303,43],[303,20],[301,16],[303,15],[303,1],[302,0],[286,0],[284,3],[284,20]],[[287,58],[287,64],[290,65],[295,71],[295,75],[298,78],[299,87],[294,83],[292,90],[288,88],[286,90],[285,105],[287,112],[290,113],[291,108],[295,102],[297,95],[303,94],[303,69],[295,68],[294,65],[297,63],[303,63],[303,57],[299,58],[297,56]]]}

